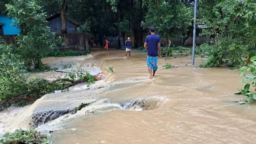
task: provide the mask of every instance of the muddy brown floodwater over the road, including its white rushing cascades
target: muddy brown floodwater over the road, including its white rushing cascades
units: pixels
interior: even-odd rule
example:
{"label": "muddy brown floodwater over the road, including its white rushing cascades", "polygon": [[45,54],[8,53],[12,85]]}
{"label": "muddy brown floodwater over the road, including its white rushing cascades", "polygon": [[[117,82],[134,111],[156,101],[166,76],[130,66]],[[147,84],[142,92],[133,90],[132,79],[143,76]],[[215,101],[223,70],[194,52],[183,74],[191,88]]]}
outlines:
{"label": "muddy brown floodwater over the road, including its white rushing cascades", "polygon": [[[8,121],[8,116],[1,118],[2,112],[2,130],[28,129],[35,114],[92,103],[76,114],[59,114],[36,129],[55,131],[56,144],[255,143],[256,105],[230,103],[244,99],[233,94],[241,87],[238,71],[196,68],[191,66],[190,57],[170,57],[160,59],[155,78],[148,79],[144,53],[132,53],[131,58],[124,58],[124,51],[92,55],[47,58],[44,63],[91,63],[104,70],[104,62],[108,62],[114,73],[98,84],[100,89],[45,95]],[[195,63],[201,61],[196,58]],[[165,63],[177,68],[164,70]]]}

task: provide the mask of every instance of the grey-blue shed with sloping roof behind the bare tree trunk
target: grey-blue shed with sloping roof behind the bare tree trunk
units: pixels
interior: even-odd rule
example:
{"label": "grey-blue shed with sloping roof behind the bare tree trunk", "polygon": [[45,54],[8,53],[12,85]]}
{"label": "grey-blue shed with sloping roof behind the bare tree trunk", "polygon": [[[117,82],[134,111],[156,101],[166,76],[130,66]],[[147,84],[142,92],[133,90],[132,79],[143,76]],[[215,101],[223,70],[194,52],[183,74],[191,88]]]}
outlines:
{"label": "grey-blue shed with sloping roof behind the bare tree trunk", "polygon": [[[67,33],[77,33],[79,31],[79,24],[67,16],[65,18],[66,18]],[[51,28],[51,32],[61,33],[62,23],[61,23],[60,12],[53,14],[51,17],[48,17],[46,20],[49,21],[49,27]]]}

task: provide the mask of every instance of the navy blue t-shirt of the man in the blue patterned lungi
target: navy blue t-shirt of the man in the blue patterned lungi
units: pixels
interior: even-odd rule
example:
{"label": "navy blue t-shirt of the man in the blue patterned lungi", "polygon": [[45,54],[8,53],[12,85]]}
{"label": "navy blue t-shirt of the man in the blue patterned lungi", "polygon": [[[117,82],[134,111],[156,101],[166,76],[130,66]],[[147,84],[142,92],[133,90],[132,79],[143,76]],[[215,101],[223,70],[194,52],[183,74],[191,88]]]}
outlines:
{"label": "navy blue t-shirt of the man in the blue patterned lungi", "polygon": [[147,55],[151,57],[157,57],[158,56],[158,48],[157,45],[160,43],[160,36],[151,34],[148,35],[145,39],[145,42],[147,43]]}

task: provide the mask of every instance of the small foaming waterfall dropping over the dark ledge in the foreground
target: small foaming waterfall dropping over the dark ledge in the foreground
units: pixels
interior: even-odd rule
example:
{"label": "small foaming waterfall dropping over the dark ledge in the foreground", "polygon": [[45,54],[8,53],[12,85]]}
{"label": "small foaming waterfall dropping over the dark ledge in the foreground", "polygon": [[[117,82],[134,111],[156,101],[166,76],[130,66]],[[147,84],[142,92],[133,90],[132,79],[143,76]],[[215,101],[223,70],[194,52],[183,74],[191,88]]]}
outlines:
{"label": "small foaming waterfall dropping over the dark ledge in the foreground", "polygon": [[[109,99],[100,99],[91,101],[90,104],[85,104],[85,107],[67,108],[62,110],[49,110],[34,113],[31,116],[28,128],[37,128],[44,126],[47,122],[52,121],[52,125],[56,126],[60,121],[74,118],[77,116],[99,113],[108,110],[128,110],[128,111],[147,111],[161,108],[168,99],[166,97],[145,97],[131,101],[112,103]],[[57,123],[54,121],[58,121]],[[56,123],[56,124],[54,124]],[[45,126],[47,127],[47,126]],[[47,129],[47,128],[46,128]]]}

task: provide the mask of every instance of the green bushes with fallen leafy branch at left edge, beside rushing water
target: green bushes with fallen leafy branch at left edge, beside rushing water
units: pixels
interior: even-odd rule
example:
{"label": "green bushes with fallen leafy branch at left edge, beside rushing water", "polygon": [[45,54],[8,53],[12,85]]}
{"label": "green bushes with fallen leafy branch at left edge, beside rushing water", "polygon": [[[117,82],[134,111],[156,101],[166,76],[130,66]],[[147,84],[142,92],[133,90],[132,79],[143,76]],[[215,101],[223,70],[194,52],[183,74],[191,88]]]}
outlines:
{"label": "green bushes with fallen leafy branch at left edge, beside rushing water", "polygon": [[20,106],[29,104],[31,102],[26,98],[36,100],[55,90],[66,91],[69,87],[82,82],[87,82],[88,87],[95,83],[94,76],[81,69],[67,73],[65,79],[57,77],[55,81],[42,77],[29,79],[30,75],[25,70],[24,64],[14,54],[2,54],[0,64],[0,110],[11,104]]}

